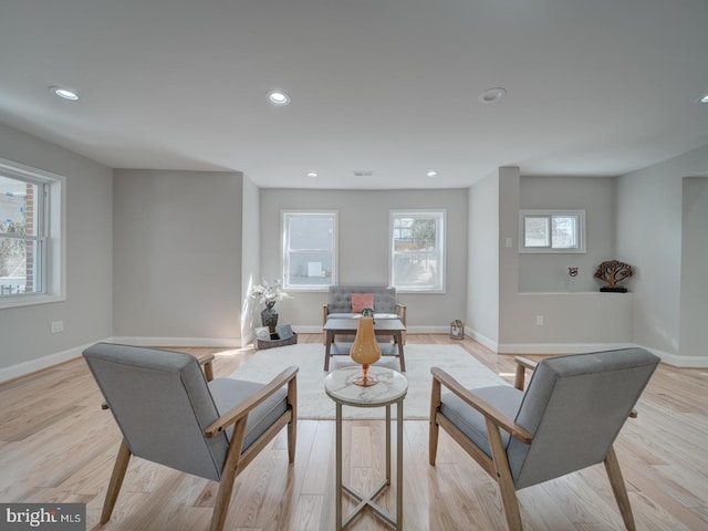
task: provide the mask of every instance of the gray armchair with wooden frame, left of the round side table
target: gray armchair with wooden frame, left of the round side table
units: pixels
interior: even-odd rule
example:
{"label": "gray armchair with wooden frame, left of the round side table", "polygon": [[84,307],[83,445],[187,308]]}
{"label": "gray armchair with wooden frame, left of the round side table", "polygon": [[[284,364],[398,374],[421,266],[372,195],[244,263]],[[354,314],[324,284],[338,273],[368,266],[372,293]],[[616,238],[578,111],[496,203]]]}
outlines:
{"label": "gray armchair with wooden frame, left of the round side table", "polygon": [[298,367],[268,384],[207,383],[185,353],[98,343],[83,355],[123,433],[101,523],[111,518],[133,455],[219,481],[212,531],[223,528],[238,473],[285,426],[293,462]]}

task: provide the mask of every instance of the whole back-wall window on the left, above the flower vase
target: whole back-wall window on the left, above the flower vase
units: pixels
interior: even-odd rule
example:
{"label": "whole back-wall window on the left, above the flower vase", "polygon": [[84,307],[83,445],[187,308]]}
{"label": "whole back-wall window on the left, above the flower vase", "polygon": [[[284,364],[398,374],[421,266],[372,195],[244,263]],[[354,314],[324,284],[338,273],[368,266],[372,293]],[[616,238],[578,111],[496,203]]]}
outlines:
{"label": "whole back-wall window on the left, above the flower vase", "polygon": [[322,291],[336,284],[335,211],[282,211],[283,287]]}

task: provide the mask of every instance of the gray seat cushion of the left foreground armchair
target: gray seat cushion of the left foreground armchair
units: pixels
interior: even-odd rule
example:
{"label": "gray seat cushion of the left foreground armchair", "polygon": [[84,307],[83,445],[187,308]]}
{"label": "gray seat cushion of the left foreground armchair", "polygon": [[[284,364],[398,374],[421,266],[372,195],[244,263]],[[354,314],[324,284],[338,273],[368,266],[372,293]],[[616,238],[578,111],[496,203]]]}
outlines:
{"label": "gray seat cushion of the left foreground armchair", "polygon": [[[209,389],[217,406],[219,415],[223,415],[236,407],[246,398],[263,387],[264,384],[247,382],[243,379],[216,378],[209,382]],[[288,410],[288,392],[283,387],[259,404],[248,416],[246,438],[241,451],[248,449],[266,430]],[[233,426],[227,429],[227,436],[231,439]]]}

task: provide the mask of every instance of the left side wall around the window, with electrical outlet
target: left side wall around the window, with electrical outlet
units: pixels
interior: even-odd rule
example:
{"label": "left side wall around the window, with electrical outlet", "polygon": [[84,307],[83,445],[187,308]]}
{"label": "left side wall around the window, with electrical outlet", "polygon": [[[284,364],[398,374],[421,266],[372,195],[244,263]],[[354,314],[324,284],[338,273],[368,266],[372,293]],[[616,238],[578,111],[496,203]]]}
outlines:
{"label": "left side wall around the window, with electrical outlet", "polygon": [[[0,381],[111,336],[112,171],[0,124],[0,157],[66,177],[66,301],[0,310]],[[50,333],[52,321],[64,332]]]}

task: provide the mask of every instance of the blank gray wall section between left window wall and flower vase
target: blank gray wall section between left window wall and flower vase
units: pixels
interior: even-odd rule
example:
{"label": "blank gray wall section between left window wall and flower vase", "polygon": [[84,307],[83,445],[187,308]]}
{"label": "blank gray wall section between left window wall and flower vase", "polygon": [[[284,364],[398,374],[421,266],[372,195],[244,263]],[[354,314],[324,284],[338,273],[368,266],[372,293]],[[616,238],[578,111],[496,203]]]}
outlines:
{"label": "blank gray wall section between left window wall and flower vase", "polygon": [[240,337],[242,189],[240,173],[114,171],[115,336]]}

